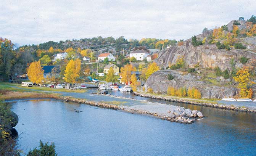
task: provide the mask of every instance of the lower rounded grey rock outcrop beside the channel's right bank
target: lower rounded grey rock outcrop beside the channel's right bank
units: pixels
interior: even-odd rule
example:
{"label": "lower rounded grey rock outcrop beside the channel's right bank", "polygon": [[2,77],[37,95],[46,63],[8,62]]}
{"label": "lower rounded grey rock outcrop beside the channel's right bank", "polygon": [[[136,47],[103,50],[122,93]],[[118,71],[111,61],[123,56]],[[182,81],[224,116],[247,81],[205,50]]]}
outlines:
{"label": "lower rounded grey rock outcrop beside the channel's right bank", "polygon": [[[168,74],[171,74],[174,79],[168,80]],[[221,83],[221,79],[219,79]],[[178,70],[160,70],[153,73],[145,83],[144,87],[147,91],[148,88],[152,88],[154,92],[167,93],[169,86],[180,87],[195,87],[200,90],[203,98],[223,98],[234,96],[238,93],[237,88],[215,86],[200,80],[200,77],[193,76],[192,74],[184,74]]]}

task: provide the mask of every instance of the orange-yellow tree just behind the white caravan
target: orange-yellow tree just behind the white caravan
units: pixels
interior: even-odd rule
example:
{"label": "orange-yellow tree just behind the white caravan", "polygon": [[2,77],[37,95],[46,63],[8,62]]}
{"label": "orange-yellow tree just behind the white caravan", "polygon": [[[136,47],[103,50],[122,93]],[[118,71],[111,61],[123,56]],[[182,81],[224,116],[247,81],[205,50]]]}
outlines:
{"label": "orange-yellow tree just behind the white caravan", "polygon": [[29,80],[33,82],[34,84],[41,83],[43,78],[43,68],[41,66],[40,61],[32,62],[27,70],[27,76],[29,77]]}

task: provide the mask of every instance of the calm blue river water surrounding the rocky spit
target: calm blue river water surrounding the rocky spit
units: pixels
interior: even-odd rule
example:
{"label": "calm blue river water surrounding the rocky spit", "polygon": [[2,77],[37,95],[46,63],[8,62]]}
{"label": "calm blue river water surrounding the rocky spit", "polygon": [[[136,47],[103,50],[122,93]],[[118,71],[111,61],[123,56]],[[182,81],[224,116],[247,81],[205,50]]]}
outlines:
{"label": "calm blue river water surrounding the rocky spit", "polygon": [[[86,93],[63,95],[95,101],[143,101]],[[173,103],[112,92],[113,95],[200,110],[204,119],[190,125],[149,116],[55,100],[18,100],[19,146],[25,152],[39,140],[55,142],[59,156],[84,155],[256,155],[256,114]],[[125,103],[124,103],[125,102]],[[82,111],[81,113],[75,112]]]}

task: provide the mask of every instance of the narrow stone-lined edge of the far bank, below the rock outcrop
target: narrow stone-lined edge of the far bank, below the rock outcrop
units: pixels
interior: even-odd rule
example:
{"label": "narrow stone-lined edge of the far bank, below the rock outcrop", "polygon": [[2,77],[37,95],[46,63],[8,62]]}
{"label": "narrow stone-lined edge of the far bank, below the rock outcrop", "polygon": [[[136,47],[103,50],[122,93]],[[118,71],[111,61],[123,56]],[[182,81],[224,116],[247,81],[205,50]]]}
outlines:
{"label": "narrow stone-lined edge of the far bank, below the rock outcrop", "polygon": [[163,97],[163,96],[148,95],[148,94],[143,94],[143,93],[138,93],[138,92],[133,92],[133,93],[134,93],[134,95],[137,95],[137,96],[142,96],[142,97],[145,97],[145,98],[153,98],[153,99],[157,99],[157,100],[172,101],[172,102],[179,102],[179,103],[188,103],[188,104],[192,104],[192,105],[213,107],[213,108],[219,108],[219,109],[227,109],[227,110],[233,110],[233,111],[243,111],[243,112],[249,112],[249,113],[256,113],[256,109],[238,107],[238,106],[233,106],[233,105],[222,105],[222,104],[195,102],[195,101],[189,101],[189,100],[183,100],[183,99],[167,98],[167,97]]}

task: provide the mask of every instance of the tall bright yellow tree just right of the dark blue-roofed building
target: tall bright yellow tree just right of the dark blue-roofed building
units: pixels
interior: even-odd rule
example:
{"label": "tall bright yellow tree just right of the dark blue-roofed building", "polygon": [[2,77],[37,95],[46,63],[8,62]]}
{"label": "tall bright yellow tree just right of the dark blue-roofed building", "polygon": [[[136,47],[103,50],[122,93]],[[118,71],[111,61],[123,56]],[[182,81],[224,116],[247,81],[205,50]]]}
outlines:
{"label": "tall bright yellow tree just right of the dark blue-roofed building", "polygon": [[70,60],[66,66],[64,80],[68,83],[76,83],[76,80],[79,78],[79,72],[81,69],[81,61],[76,59],[75,61]]}

